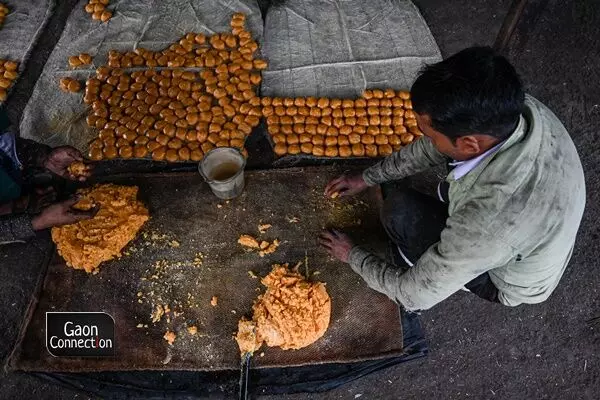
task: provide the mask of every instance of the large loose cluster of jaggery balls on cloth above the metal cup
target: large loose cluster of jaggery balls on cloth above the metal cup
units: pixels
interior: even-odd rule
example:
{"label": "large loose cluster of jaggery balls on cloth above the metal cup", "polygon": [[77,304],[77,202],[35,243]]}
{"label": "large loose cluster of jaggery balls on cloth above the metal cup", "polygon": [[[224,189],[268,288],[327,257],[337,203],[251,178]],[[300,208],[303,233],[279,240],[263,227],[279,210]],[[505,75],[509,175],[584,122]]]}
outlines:
{"label": "large loose cluster of jaggery balls on cloth above the metal cup", "polygon": [[[238,22],[232,21],[232,25],[243,27],[240,15],[234,16]],[[182,40],[192,36],[197,34],[187,34]],[[136,49],[131,53],[143,56],[151,52]],[[90,144],[90,158],[152,156],[172,162],[199,161],[214,147],[244,151],[245,138],[259,124],[262,112],[255,91],[261,75],[253,61],[261,61],[257,65],[261,68],[266,62],[254,60],[254,50],[244,58],[251,68],[242,65],[234,50],[220,53],[218,66],[199,73],[181,68],[126,72],[99,67],[95,77],[87,80],[84,94],[84,102],[91,105],[87,123],[99,130]],[[126,56],[121,53],[119,62]],[[72,67],[87,64],[81,55],[77,58],[81,64],[73,58],[69,60]]]}

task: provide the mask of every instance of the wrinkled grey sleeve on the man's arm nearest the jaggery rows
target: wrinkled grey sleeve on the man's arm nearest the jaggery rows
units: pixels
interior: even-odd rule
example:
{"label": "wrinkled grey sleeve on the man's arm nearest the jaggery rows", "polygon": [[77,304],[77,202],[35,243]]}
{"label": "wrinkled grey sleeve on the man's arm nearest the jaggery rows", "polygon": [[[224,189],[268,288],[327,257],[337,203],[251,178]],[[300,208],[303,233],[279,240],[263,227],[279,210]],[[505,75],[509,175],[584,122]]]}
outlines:
{"label": "wrinkled grey sleeve on the man's arm nearest the jaggery rows", "polygon": [[440,153],[431,140],[421,137],[400,151],[381,160],[363,172],[369,186],[399,180],[428,168],[443,164],[446,156]]}

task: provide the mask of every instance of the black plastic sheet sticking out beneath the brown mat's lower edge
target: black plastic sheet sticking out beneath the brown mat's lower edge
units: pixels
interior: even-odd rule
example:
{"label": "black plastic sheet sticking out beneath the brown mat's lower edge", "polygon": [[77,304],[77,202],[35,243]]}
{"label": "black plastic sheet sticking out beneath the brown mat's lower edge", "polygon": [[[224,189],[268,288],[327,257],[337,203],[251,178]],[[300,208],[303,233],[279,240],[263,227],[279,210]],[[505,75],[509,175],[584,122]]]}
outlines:
{"label": "black plastic sheet sticking out beneath the brown mat's lower edge", "polygon": [[[323,392],[371,373],[424,357],[428,353],[417,314],[400,311],[404,352],[400,357],[357,363],[309,365],[291,368],[260,368],[250,371],[251,394]],[[85,374],[33,373],[45,380],[104,398],[172,396],[234,396],[239,371],[222,372],[98,372]]]}

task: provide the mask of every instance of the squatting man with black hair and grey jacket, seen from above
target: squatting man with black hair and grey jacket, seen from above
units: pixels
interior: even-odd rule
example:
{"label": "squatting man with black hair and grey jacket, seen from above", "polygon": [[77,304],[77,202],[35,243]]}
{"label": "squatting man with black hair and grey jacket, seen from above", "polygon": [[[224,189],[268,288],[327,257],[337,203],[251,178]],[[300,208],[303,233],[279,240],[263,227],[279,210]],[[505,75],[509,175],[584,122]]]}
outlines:
{"label": "squatting man with black hair and grey jacket, seen from above", "polygon": [[[585,206],[581,162],[565,127],[487,47],[427,66],[411,97],[425,136],[325,188],[352,196],[402,180],[394,185],[401,189],[383,190],[381,220],[406,265],[337,231],[323,232],[321,245],[407,310],[428,309],[461,288],[506,306],[546,300],[571,258]],[[406,184],[444,164],[437,198]]]}

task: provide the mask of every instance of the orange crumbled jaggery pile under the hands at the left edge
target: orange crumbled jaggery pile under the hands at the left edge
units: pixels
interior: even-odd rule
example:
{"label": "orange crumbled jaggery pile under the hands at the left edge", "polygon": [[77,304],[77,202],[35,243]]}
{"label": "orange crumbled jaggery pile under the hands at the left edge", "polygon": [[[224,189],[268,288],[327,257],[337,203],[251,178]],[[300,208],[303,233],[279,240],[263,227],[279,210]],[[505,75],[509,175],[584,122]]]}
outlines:
{"label": "orange crumbled jaggery pile under the hands at the left edge", "polygon": [[52,228],[52,240],[67,265],[95,272],[103,261],[121,256],[148,220],[148,210],[137,200],[138,188],[113,184],[80,189],[80,202],[74,207],[100,209],[92,219]]}

